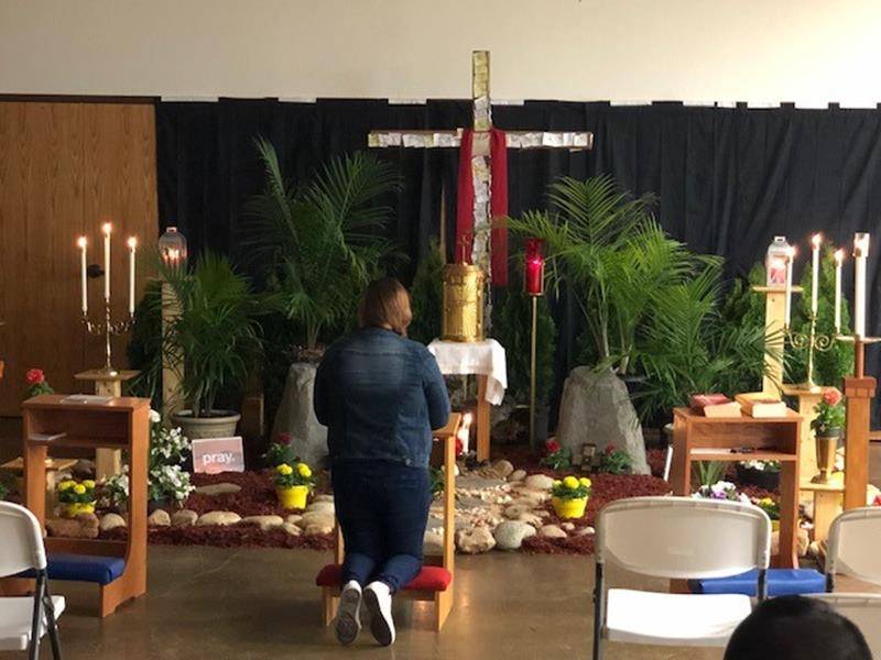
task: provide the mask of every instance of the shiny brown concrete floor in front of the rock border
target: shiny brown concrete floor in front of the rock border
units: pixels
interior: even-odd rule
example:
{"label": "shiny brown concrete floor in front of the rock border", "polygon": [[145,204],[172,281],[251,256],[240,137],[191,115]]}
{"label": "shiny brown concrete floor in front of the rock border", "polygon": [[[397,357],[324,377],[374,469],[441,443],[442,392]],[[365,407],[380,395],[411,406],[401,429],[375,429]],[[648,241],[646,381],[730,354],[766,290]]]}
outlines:
{"label": "shiny brown concrete floor in front of the rock border", "polygon": [[[326,559],[307,550],[152,547],[148,595],[104,622],[87,614],[94,605],[90,586],[56,585],[68,598],[62,617],[65,658],[589,658],[589,558],[500,552],[457,558],[456,604],[444,631],[431,631],[431,605],[400,603],[399,637],[391,648],[374,646],[369,631],[354,647],[340,648],[322,627],[313,580]],[[2,660],[21,657],[0,653]],[[43,657],[51,657],[47,648]],[[607,657],[710,660],[721,652],[610,645]]]}

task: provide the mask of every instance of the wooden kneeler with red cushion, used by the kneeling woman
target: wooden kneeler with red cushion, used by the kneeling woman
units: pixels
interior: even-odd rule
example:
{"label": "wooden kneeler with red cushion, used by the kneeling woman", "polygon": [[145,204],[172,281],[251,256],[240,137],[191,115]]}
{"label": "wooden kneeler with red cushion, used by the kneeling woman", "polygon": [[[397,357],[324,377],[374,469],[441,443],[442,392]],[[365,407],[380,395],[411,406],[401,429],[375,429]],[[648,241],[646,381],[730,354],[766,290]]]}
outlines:
{"label": "wooden kneeler with red cushion, used by the kneeling woman", "polygon": [[[447,570],[450,576],[455,575],[456,561],[456,433],[461,425],[461,415],[454,413],[449,416],[447,426],[435,431],[435,442],[439,442],[443,448],[444,466],[444,552],[440,557],[426,557],[425,565],[439,565]],[[436,452],[433,452],[433,454]],[[334,548],[334,562],[341,564],[344,560],[342,535],[339,525],[336,529],[336,547]],[[413,591],[402,590],[395,597],[409,598],[412,601],[428,601],[435,604],[434,629],[439,632],[440,628],[453,609],[453,590],[455,580],[444,591]],[[323,620],[325,626],[329,626],[337,615],[339,606],[339,585],[322,587]]]}

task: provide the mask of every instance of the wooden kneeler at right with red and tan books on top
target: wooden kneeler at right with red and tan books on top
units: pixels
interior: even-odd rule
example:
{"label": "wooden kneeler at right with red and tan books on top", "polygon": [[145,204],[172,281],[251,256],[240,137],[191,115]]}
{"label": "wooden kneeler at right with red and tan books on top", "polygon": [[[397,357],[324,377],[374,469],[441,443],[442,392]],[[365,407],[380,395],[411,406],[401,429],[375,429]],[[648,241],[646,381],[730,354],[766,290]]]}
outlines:
{"label": "wooden kneeler at right with red and tan books on top", "polygon": [[673,411],[673,470],[676,495],[692,493],[694,461],[780,461],[780,554],[774,565],[798,568],[798,470],[802,416],[704,417],[688,408]]}

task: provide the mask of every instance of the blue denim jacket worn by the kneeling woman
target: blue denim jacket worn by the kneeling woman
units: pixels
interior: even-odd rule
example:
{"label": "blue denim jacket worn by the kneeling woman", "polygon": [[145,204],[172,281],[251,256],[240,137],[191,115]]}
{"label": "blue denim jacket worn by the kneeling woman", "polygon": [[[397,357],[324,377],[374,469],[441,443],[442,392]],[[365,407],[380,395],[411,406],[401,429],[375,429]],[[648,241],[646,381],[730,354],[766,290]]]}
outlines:
{"label": "blue denim jacket worn by the kneeling woman", "polygon": [[327,350],[314,398],[331,464],[384,460],[427,468],[432,429],[444,427],[450,410],[434,355],[382,328],[362,328]]}

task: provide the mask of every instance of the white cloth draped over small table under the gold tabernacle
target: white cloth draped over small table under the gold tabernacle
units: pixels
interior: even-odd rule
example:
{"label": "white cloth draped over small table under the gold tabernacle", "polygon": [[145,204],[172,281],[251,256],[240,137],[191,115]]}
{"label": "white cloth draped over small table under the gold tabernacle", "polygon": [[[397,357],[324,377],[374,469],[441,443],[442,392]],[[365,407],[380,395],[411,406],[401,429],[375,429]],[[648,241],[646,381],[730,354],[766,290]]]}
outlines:
{"label": "white cloth draped over small table under the gold tabernacle", "polygon": [[494,339],[483,341],[443,341],[435,339],[428,350],[445,375],[487,376],[487,402],[498,406],[508,389],[504,348]]}

